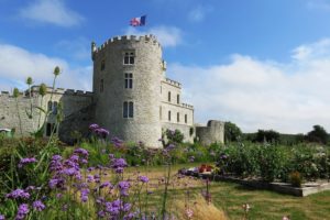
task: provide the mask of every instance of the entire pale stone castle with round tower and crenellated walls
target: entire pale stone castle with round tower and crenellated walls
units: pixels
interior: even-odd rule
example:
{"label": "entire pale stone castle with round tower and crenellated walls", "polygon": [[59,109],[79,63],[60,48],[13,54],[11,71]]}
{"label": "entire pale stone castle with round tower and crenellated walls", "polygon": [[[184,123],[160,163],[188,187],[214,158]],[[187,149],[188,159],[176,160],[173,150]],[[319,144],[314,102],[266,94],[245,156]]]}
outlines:
{"label": "entire pale stone castle with round tower and crenellated walls", "polygon": [[[98,123],[110,134],[124,141],[142,141],[146,146],[160,147],[158,139],[167,129],[178,129],[186,142],[199,140],[202,144],[223,143],[224,123],[211,120],[207,127],[194,123],[194,107],[182,101],[182,85],[166,78],[166,62],[162,46],[153,35],[121,36],[108,40],[97,47],[91,43],[94,62],[92,92],[57,88],[47,89],[44,97],[38,87],[15,99],[7,91],[0,95],[0,129],[15,128],[20,121],[22,135],[37,129],[40,111],[26,110],[33,106],[48,109],[44,135],[50,135],[55,124],[58,103],[63,103],[64,120],[58,136],[73,142],[73,131],[88,135],[88,125]],[[20,109],[18,117],[16,105]]]}

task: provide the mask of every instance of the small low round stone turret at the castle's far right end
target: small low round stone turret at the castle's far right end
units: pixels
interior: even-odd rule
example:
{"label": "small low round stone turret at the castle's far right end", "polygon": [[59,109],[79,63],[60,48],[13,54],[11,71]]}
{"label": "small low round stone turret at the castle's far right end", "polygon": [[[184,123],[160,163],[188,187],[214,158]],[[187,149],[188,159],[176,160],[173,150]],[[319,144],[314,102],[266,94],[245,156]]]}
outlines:
{"label": "small low round stone turret at the castle's far right end", "polygon": [[207,127],[196,127],[196,138],[202,145],[224,143],[224,123],[210,120]]}

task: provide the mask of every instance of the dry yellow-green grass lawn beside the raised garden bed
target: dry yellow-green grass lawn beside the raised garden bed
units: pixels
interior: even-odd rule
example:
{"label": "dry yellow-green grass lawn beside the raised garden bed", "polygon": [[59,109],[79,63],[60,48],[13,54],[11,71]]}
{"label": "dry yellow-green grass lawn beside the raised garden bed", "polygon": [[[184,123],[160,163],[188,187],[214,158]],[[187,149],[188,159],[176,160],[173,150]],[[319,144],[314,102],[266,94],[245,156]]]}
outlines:
{"label": "dry yellow-green grass lawn beside the raised garden bed", "polygon": [[[196,164],[176,165],[172,168],[172,175],[182,167],[191,167]],[[141,172],[141,175],[147,175],[151,184],[155,184],[164,176],[164,167],[138,167],[129,168],[127,172]],[[174,178],[175,179],[175,178]],[[185,184],[191,186],[190,194],[195,200],[200,200],[200,191],[205,189],[205,183],[200,179],[185,178],[185,180],[176,182],[170,188],[172,199],[182,202],[185,198]],[[228,219],[242,219],[244,211],[243,204],[251,206],[249,219],[282,219],[283,216],[290,216],[295,220],[329,219],[330,216],[330,191],[323,191],[308,197],[294,197],[282,195],[268,190],[257,190],[232,183],[211,183],[212,206],[218,208],[219,213],[227,216]],[[162,198],[162,188],[155,189],[155,195],[151,198],[151,202],[160,202]],[[182,205],[172,205],[182,207]],[[204,209],[207,206],[204,205]],[[215,210],[215,209],[212,209]],[[223,210],[223,211],[222,211]],[[182,209],[177,210],[182,212]],[[224,215],[223,215],[224,212]],[[198,218],[193,218],[198,219]],[[212,219],[212,218],[206,218]],[[218,217],[213,219],[219,219]]]}

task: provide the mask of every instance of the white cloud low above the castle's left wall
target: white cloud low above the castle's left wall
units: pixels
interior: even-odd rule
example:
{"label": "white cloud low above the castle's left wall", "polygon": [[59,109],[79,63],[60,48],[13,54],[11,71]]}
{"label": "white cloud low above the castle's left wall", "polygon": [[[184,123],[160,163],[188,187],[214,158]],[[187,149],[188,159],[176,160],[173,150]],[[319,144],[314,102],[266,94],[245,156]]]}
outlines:
{"label": "white cloud low above the castle's left wall", "polygon": [[92,69],[90,66],[73,68],[64,59],[31,53],[9,44],[0,44],[0,79],[10,81],[11,85],[0,84],[0,89],[4,90],[9,87],[25,89],[24,81],[29,76],[33,78],[35,85],[45,82],[51,86],[55,66],[59,66],[63,72],[57,78],[57,87],[91,89]]}

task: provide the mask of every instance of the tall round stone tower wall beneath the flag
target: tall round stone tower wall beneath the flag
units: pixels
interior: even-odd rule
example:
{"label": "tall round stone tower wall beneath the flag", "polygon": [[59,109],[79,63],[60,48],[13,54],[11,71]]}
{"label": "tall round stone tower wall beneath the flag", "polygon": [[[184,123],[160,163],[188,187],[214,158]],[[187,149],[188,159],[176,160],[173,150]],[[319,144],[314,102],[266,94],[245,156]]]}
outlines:
{"label": "tall round stone tower wall beneath the flag", "polygon": [[[134,64],[124,65],[124,53],[134,53]],[[123,36],[92,48],[96,122],[125,141],[142,141],[160,147],[162,48],[154,36]],[[102,62],[105,68],[102,70]],[[133,88],[124,88],[124,74],[133,74]],[[101,91],[103,81],[103,91]],[[134,103],[133,118],[123,118],[123,102]]]}

